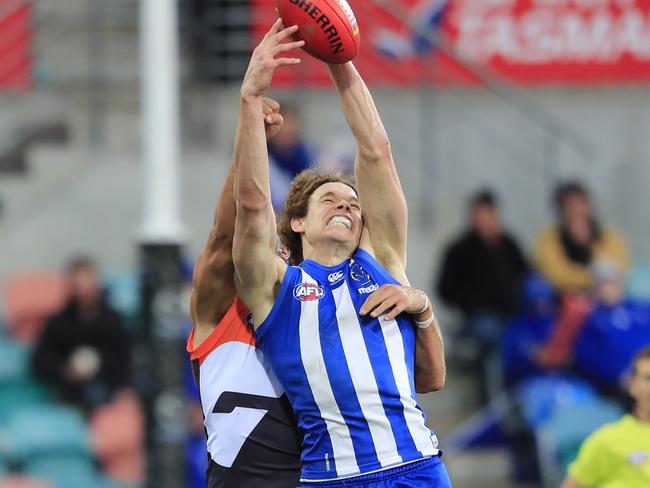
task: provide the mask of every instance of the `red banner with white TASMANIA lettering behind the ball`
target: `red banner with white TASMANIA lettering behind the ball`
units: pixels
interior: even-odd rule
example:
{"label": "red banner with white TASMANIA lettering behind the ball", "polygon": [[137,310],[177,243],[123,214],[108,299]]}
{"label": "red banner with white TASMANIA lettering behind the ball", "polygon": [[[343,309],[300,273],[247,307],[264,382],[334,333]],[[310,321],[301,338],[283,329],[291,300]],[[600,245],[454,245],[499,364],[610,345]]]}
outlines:
{"label": "red banner with white TASMANIA lettering behind the ball", "polygon": [[[523,85],[650,81],[650,0],[350,5],[361,30],[355,64],[373,84],[476,83],[474,68]],[[274,16],[271,0],[255,0],[256,40]],[[311,59],[278,75],[284,85],[329,83],[322,64]]]}

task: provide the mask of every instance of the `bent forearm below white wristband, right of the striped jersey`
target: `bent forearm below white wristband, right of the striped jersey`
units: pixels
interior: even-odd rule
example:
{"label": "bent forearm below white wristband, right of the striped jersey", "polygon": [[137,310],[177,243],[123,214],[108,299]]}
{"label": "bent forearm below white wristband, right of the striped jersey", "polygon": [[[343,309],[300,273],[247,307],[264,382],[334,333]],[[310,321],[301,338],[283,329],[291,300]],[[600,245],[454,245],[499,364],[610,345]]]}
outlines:
{"label": "bent forearm below white wristband, right of the striped jersey", "polygon": [[442,333],[431,306],[422,317],[416,317],[420,322],[429,319],[433,319],[429,327],[417,329],[415,342],[415,389],[418,393],[440,390],[447,374]]}

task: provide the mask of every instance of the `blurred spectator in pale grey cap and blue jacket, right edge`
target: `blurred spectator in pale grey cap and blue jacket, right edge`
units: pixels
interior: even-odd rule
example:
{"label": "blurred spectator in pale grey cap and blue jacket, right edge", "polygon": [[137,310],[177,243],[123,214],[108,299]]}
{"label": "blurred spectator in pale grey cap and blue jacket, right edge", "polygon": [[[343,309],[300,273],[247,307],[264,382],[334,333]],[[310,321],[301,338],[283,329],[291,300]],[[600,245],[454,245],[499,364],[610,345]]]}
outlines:
{"label": "blurred spectator in pale grey cap and blue jacket, right edge", "polygon": [[594,266],[593,311],[575,345],[575,366],[595,386],[620,391],[634,356],[650,346],[650,303],[625,296],[624,274],[607,262]]}

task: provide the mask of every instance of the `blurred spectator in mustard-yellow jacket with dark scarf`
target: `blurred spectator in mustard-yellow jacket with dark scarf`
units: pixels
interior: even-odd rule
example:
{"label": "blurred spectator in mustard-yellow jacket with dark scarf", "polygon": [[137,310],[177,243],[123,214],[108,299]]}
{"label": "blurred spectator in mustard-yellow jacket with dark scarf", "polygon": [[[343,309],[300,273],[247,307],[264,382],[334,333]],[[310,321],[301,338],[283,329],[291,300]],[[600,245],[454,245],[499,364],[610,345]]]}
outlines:
{"label": "blurred spectator in mustard-yellow jacket with dark scarf", "polygon": [[561,292],[583,292],[591,287],[589,267],[607,260],[627,271],[629,255],[623,236],[598,221],[591,196],[577,181],[560,184],[554,194],[558,222],[540,235],[537,261],[540,271]]}

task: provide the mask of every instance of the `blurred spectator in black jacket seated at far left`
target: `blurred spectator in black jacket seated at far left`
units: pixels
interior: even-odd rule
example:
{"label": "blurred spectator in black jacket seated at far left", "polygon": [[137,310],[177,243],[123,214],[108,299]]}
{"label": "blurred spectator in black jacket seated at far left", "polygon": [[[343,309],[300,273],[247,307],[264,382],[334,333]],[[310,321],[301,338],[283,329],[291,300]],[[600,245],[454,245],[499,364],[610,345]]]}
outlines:
{"label": "blurred spectator in black jacket seated at far left", "polygon": [[120,315],[104,300],[94,263],[75,259],[67,275],[69,300],[48,319],[32,365],[65,402],[90,411],[129,385],[129,340]]}

